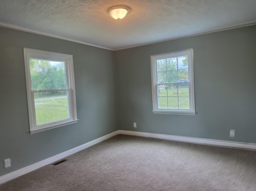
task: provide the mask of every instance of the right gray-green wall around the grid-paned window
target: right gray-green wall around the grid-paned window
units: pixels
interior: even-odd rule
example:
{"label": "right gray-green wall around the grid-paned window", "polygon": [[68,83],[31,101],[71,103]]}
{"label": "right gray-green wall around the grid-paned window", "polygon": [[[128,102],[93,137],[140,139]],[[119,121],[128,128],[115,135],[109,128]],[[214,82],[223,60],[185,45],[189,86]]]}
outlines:
{"label": "right gray-green wall around the grid-paned window", "polygon": [[[190,48],[196,116],[153,114],[150,55]],[[118,128],[256,143],[255,53],[256,26],[115,51]]]}

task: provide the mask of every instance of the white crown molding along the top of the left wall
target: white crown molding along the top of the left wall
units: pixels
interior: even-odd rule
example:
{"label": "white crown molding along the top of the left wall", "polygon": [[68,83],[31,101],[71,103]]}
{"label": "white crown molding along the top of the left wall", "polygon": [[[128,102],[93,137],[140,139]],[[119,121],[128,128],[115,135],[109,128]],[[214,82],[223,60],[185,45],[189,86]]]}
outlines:
{"label": "white crown molding along the top of the left wall", "polygon": [[33,29],[25,28],[25,27],[20,27],[20,26],[17,26],[17,25],[12,25],[12,24],[8,24],[8,23],[4,23],[4,22],[0,22],[0,26],[5,27],[5,28],[16,29],[16,30],[20,30],[20,31],[24,31],[24,32],[30,32],[30,33],[35,33],[35,34],[39,34],[39,35],[44,35],[44,36],[48,36],[48,37],[54,37],[54,38],[58,38],[58,39],[66,40],[66,41],[76,42],[76,43],[80,43],[80,44],[84,44],[84,45],[89,45],[89,46],[98,47],[98,48],[113,51],[113,49],[108,48],[108,47],[98,46],[98,45],[95,45],[95,44],[86,43],[84,41],[79,41],[79,40],[63,37],[63,36],[60,36],[60,35],[54,35],[54,34],[51,34],[51,33],[41,32],[41,31],[38,31],[38,30],[33,30]]}

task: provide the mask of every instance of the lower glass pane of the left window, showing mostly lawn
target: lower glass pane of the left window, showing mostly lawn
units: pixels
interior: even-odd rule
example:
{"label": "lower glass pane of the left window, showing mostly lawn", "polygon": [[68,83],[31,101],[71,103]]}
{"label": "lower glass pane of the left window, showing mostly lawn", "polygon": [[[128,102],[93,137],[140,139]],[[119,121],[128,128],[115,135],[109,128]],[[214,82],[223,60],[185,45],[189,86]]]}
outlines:
{"label": "lower glass pane of the left window, showing mostly lawn", "polygon": [[44,91],[34,93],[36,125],[70,118],[68,91]]}

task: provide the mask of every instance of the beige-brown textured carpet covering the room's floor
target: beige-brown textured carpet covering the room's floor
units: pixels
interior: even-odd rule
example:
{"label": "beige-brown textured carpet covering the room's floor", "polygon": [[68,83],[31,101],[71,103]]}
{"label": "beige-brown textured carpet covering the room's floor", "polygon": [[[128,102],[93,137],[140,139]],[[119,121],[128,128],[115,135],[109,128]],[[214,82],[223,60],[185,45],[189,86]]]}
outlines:
{"label": "beige-brown textured carpet covering the room's floor", "polygon": [[256,191],[256,152],[117,135],[1,191]]}

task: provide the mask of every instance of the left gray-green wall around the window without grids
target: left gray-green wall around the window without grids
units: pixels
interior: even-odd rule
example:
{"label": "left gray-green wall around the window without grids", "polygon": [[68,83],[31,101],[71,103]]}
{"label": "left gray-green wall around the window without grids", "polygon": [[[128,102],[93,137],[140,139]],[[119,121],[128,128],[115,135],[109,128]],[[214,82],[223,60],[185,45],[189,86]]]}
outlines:
{"label": "left gray-green wall around the window without grids", "polygon": [[[29,134],[24,47],[73,55],[77,123]],[[0,28],[0,176],[117,130],[115,86],[113,51]]]}

